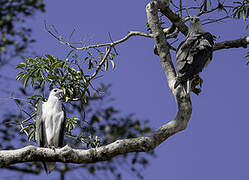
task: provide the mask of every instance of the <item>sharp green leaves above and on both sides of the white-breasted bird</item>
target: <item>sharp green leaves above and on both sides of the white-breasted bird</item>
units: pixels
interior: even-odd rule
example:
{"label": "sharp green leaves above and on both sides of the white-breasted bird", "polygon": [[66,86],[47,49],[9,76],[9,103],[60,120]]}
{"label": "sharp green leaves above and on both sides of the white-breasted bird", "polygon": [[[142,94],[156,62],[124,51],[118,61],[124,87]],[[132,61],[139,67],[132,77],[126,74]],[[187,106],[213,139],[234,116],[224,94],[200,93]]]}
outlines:
{"label": "sharp green leaves above and on both sides of the white-breasted bird", "polygon": [[[34,90],[44,91],[46,87],[53,89],[54,87],[61,88],[64,91],[65,102],[79,101],[80,110],[84,111],[88,97],[91,96],[90,87],[95,90],[92,85],[94,78],[102,71],[108,70],[109,63],[115,67],[115,54],[110,49],[104,51],[96,50],[95,52],[88,51],[84,60],[81,60],[78,54],[72,54],[70,51],[65,60],[56,58],[50,54],[44,57],[25,58],[24,62],[19,63],[16,69],[20,70],[16,79],[23,83],[24,88],[30,86]],[[109,52],[107,54],[107,52]],[[102,69],[103,67],[103,69]],[[86,70],[85,70],[86,69]],[[33,94],[27,97],[30,100],[31,115],[36,114],[36,105],[38,101],[45,101],[46,98],[40,94]],[[21,133],[28,136],[28,140],[34,138],[35,124],[34,119],[29,118],[22,124]],[[79,118],[76,116],[67,117],[66,134],[71,136],[71,131],[75,127],[80,127]],[[77,137],[88,147],[97,147],[100,145],[99,138],[93,137],[91,134],[87,138]],[[86,140],[87,139],[87,140]]]}

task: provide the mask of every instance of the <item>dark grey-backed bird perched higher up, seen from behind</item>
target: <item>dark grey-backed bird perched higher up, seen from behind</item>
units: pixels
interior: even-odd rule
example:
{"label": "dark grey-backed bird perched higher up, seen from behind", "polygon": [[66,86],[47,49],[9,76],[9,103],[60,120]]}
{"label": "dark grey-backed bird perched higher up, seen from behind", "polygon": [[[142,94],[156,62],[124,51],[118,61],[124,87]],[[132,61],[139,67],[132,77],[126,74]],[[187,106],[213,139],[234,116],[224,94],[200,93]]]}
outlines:
{"label": "dark grey-backed bird perched higher up, seen from behind", "polygon": [[191,90],[197,95],[201,92],[196,88],[198,84],[202,86],[199,74],[212,60],[213,45],[212,34],[202,29],[197,16],[191,16],[188,35],[176,50],[177,79],[174,88],[181,84],[187,94]]}

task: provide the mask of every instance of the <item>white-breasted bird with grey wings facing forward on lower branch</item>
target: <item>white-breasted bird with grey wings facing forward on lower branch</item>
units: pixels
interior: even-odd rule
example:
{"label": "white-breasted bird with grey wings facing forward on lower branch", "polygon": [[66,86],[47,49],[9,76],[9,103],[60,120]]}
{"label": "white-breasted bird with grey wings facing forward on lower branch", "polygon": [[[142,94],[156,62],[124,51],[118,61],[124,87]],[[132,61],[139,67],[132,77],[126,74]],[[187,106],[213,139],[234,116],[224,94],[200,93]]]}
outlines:
{"label": "white-breasted bird with grey wings facing forward on lower branch", "polygon": [[[55,88],[50,91],[46,102],[40,101],[37,107],[36,141],[39,147],[62,147],[64,139],[66,114],[60,99],[63,90]],[[55,162],[43,162],[46,173],[55,167]]]}

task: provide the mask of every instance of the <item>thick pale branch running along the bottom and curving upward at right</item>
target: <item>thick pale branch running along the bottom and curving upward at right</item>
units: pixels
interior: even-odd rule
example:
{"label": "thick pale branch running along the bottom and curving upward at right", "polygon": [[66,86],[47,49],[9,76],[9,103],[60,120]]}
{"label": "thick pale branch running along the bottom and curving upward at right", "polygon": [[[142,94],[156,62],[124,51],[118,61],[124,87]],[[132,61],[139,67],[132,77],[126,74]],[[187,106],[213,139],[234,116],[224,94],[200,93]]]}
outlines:
{"label": "thick pale branch running along the bottom and curving upward at right", "polygon": [[66,163],[95,163],[130,152],[146,152],[154,149],[168,137],[184,130],[191,117],[192,105],[189,95],[186,95],[181,87],[174,89],[176,78],[175,69],[169,53],[165,35],[158,20],[158,4],[155,1],[146,6],[147,18],[153,37],[158,48],[162,67],[168,78],[169,87],[177,102],[177,115],[175,119],[161,126],[151,136],[132,139],[117,140],[106,146],[88,150],[72,149],[65,146],[61,149],[48,149],[35,146],[27,146],[17,150],[0,151],[0,166],[30,161],[58,161]]}

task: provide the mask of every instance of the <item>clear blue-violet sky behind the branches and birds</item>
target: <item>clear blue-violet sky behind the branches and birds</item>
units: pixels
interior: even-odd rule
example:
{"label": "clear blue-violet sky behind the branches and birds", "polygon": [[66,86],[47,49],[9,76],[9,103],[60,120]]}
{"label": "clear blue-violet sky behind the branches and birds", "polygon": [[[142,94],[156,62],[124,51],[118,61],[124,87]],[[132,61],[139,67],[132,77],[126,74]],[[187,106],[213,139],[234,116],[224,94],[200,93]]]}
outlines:
{"label": "clear blue-violet sky behind the branches and birds", "polygon": [[[74,40],[92,37],[99,43],[109,41],[108,32],[117,40],[128,31],[145,31],[147,2],[47,1],[46,12],[37,13],[27,23],[37,40],[32,49],[40,55],[61,58],[68,52],[44,31],[44,20],[67,36],[75,29]],[[204,28],[218,37],[217,42],[248,35],[245,23],[239,20]],[[149,119],[156,129],[174,118],[176,105],[153,46],[153,40],[144,37],[132,37],[117,46],[116,69],[105,73],[99,82],[112,83],[114,105],[124,114],[134,112],[138,118]],[[201,74],[202,93],[192,94],[188,128],[156,148],[157,158],[150,158],[150,166],[143,170],[145,180],[249,178],[249,67],[243,58],[247,51],[240,48],[214,53],[213,61]],[[15,77],[15,73],[12,70],[10,76]],[[6,87],[13,88],[11,84]],[[44,173],[40,179],[43,177]],[[135,178],[126,174],[124,179]]]}

